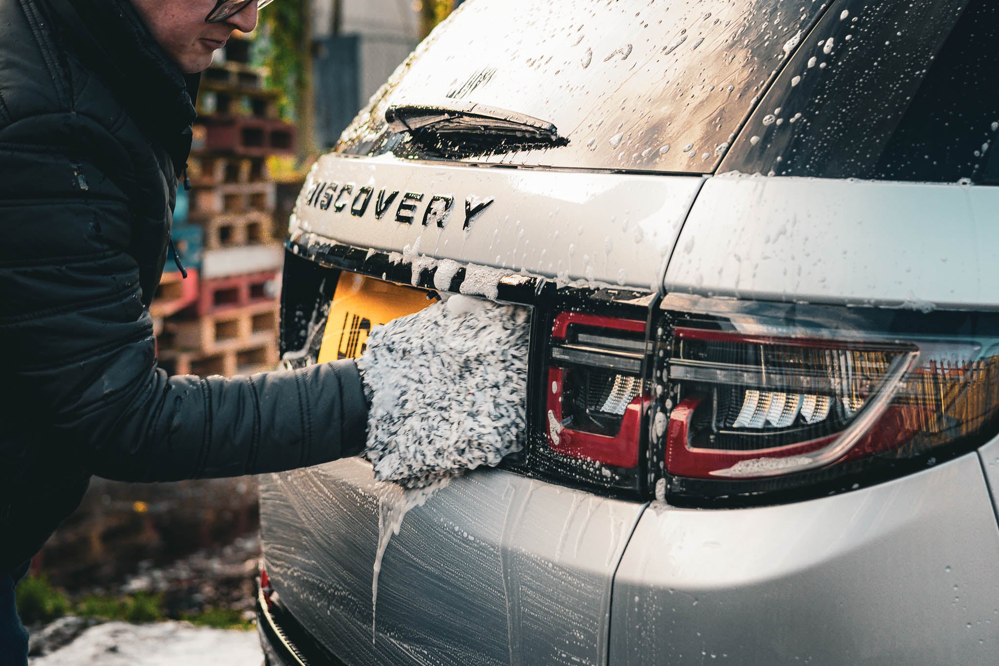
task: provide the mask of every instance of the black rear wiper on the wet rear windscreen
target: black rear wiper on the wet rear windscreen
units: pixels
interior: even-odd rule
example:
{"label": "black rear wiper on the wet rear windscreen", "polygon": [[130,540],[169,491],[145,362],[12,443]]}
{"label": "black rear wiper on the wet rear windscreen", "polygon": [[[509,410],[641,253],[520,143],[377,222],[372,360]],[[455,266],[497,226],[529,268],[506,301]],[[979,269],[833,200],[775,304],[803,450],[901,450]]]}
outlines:
{"label": "black rear wiper on the wet rear windscreen", "polygon": [[458,135],[495,135],[524,143],[559,142],[555,126],[526,114],[472,102],[401,104],[385,112],[393,132],[430,134],[440,138]]}

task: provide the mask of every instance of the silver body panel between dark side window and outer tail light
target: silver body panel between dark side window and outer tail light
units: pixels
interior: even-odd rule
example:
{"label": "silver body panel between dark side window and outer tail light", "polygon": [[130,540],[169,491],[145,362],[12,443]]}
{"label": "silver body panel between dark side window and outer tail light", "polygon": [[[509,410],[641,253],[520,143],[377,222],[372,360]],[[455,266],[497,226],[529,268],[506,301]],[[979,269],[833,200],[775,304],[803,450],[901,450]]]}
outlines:
{"label": "silver body panel between dark side window and outer tail light", "polygon": [[726,175],[704,184],[667,292],[995,309],[999,188]]}

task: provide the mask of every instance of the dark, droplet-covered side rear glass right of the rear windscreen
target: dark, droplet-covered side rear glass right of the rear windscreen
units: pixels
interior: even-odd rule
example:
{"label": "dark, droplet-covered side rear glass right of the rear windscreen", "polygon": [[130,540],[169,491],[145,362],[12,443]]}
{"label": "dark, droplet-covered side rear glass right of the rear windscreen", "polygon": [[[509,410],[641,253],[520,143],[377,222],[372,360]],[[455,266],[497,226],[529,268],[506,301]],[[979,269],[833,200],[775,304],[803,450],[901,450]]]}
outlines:
{"label": "dark, droplet-covered side rear glass right of the rear windscreen", "polygon": [[995,0],[840,0],[719,171],[994,182],[997,33]]}

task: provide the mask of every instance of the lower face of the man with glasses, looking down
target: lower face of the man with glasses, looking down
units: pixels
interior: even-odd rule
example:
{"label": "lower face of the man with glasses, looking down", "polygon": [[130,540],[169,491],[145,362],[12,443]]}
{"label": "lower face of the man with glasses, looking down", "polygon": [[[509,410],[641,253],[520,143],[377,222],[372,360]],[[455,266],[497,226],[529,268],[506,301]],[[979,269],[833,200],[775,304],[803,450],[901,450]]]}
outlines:
{"label": "lower face of the man with glasses, looking down", "polygon": [[132,0],[132,4],[185,74],[205,70],[212,54],[225,46],[234,30],[250,32],[257,27],[256,2],[220,23],[205,23],[215,0]]}

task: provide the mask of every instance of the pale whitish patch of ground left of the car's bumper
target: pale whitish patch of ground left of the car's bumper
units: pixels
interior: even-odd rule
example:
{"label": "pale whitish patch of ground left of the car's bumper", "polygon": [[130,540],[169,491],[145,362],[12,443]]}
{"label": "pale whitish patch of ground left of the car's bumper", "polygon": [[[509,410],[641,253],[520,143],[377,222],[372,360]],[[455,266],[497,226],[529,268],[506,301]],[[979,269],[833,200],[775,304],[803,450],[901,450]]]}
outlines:
{"label": "pale whitish patch of ground left of the car's bumper", "polygon": [[255,631],[225,631],[185,622],[91,627],[31,666],[257,666],[264,660]]}

